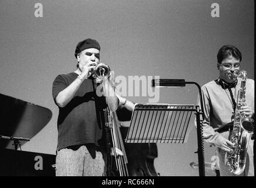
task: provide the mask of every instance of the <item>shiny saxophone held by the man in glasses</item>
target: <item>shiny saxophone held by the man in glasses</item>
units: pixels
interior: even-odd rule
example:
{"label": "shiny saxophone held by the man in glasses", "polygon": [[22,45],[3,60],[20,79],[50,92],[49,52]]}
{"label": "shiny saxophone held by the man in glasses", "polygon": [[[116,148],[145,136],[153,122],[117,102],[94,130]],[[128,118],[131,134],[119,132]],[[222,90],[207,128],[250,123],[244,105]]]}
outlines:
{"label": "shiny saxophone held by the man in glasses", "polygon": [[235,144],[235,147],[232,152],[227,153],[227,159],[230,172],[239,175],[244,172],[247,157],[247,147],[250,137],[254,132],[254,120],[251,117],[242,115],[242,113],[240,113],[241,107],[246,106],[245,83],[247,79],[247,72],[245,70],[241,70],[236,76],[241,76],[241,86],[238,90],[234,126],[230,134],[230,141]]}

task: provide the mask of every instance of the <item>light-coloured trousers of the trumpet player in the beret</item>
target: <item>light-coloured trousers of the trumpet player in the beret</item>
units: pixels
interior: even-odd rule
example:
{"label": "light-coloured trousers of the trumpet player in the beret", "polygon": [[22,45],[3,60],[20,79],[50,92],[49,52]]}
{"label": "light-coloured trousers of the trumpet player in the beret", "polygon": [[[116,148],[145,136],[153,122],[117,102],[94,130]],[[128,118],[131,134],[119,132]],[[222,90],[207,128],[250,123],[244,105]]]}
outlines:
{"label": "light-coloured trousers of the trumpet player in the beret", "polygon": [[56,176],[105,176],[106,155],[94,146],[61,149],[56,155]]}

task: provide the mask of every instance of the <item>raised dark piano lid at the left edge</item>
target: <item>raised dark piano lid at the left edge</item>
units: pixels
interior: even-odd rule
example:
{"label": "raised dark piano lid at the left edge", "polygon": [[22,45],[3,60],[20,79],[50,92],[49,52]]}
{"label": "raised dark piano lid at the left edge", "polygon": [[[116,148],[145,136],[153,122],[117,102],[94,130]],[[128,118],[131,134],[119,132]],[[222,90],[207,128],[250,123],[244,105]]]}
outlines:
{"label": "raised dark piano lid at the left edge", "polygon": [[[48,108],[0,93],[1,136],[31,139],[51,118],[52,112]],[[14,149],[12,143],[12,140],[0,139],[0,148]]]}

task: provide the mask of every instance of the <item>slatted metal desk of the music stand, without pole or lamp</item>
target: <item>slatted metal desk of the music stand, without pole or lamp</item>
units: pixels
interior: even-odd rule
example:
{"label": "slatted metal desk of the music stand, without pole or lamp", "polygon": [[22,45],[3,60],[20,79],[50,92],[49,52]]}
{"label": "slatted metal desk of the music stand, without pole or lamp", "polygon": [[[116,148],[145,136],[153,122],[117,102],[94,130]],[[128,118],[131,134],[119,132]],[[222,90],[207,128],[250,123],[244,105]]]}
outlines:
{"label": "slatted metal desk of the music stand, without pole or lamp", "polygon": [[194,105],[136,103],[127,143],[184,143]]}

